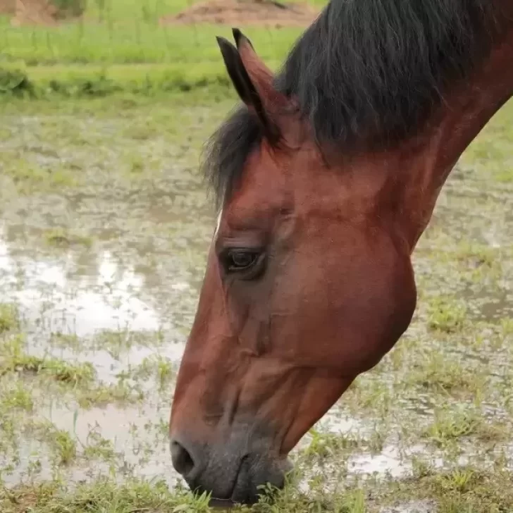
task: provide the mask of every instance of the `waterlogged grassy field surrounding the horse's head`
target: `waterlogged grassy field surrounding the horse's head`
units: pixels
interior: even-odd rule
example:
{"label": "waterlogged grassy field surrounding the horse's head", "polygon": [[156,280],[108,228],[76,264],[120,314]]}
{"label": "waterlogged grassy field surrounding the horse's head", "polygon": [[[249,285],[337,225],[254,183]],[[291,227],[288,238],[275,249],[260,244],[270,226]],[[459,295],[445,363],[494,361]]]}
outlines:
{"label": "waterlogged grassy field surrounding the horse's head", "polygon": [[[208,511],[167,422],[214,226],[200,151],[235,95],[229,27],[156,23],[184,7],[1,20],[2,513]],[[273,68],[299,32],[247,29]],[[510,102],[440,195],[407,333],[254,511],[513,512],[512,126]]]}

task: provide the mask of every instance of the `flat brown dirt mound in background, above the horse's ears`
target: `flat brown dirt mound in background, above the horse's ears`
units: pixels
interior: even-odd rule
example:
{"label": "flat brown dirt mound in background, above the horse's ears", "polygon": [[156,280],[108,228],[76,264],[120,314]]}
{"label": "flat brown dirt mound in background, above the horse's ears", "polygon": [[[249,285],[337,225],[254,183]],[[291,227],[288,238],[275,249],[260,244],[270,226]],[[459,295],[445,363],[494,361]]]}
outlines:
{"label": "flat brown dirt mound in background, above the horse's ears", "polygon": [[209,0],[194,4],[175,16],[161,18],[163,24],[214,23],[218,25],[260,25],[304,27],[319,16],[308,4],[282,4],[272,0]]}

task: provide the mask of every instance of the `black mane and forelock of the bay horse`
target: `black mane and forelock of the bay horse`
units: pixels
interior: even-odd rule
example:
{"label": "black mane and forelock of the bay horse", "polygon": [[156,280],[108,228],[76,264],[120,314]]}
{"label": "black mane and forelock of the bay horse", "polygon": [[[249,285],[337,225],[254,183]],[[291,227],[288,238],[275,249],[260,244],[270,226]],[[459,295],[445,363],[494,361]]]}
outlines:
{"label": "black mane and forelock of the bay horse", "polygon": [[[386,147],[412,135],[492,43],[493,0],[331,0],[276,86],[299,100],[318,142]],[[240,107],[214,133],[204,171],[221,200],[261,140]]]}

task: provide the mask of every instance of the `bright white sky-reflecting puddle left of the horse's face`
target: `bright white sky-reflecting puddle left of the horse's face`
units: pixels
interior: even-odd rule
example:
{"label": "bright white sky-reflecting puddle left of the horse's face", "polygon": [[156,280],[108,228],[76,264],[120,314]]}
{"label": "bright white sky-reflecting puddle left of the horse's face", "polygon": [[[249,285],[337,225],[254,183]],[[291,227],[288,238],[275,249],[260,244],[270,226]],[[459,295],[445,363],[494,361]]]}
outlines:
{"label": "bright white sky-reflecting puddle left of the horse's face", "polygon": [[[137,297],[143,278],[119,269],[108,251],[98,255],[97,276],[69,276],[68,255],[57,261],[15,260],[0,228],[0,280],[4,301],[16,302],[32,323],[50,333],[93,335],[100,330],[159,330],[154,308]],[[25,287],[16,290],[16,273]],[[9,283],[11,282],[11,283]],[[10,287],[9,287],[10,285]],[[181,285],[181,284],[178,284]],[[11,290],[8,290],[11,288]]]}

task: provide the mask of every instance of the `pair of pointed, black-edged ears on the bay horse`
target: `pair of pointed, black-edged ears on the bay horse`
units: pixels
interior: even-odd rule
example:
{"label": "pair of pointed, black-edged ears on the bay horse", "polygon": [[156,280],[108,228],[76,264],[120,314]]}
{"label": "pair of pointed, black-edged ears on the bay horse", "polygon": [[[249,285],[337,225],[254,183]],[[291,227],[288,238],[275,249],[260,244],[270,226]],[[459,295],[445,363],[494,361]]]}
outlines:
{"label": "pair of pointed, black-edged ears on the bay horse", "polygon": [[217,37],[226,70],[240,99],[259,118],[266,137],[274,143],[280,138],[275,114],[276,99],[281,95],[273,87],[273,73],[260,61],[240,30],[233,29],[233,35],[237,48],[224,37]]}

